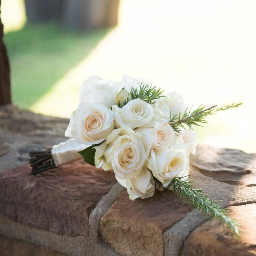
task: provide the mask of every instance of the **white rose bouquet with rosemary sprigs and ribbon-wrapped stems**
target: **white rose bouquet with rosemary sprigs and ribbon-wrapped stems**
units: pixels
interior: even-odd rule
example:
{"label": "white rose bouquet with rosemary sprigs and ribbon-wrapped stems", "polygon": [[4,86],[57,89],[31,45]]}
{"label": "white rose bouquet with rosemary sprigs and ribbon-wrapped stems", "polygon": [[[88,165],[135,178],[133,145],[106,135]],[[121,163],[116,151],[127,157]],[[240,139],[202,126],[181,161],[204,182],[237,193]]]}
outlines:
{"label": "white rose bouquet with rosemary sprigs and ribbon-wrapped stems", "polygon": [[83,158],[92,166],[113,171],[131,200],[152,197],[156,190],[173,190],[185,202],[223,221],[237,236],[238,224],[194,189],[189,155],[198,144],[193,126],[208,115],[238,107],[186,107],[177,92],[166,93],[145,78],[123,76],[121,82],[92,76],[80,88],[80,104],[70,118],[66,142],[42,152],[30,152],[31,174]]}

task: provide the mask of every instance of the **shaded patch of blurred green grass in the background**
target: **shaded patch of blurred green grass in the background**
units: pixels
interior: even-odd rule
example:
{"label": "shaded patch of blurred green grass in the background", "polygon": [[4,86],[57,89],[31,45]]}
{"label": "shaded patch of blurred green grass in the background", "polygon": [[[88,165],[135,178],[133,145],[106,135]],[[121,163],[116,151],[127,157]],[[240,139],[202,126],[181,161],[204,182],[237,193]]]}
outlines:
{"label": "shaded patch of blurred green grass in the background", "polygon": [[53,24],[26,25],[4,35],[13,103],[30,108],[110,31],[74,33]]}

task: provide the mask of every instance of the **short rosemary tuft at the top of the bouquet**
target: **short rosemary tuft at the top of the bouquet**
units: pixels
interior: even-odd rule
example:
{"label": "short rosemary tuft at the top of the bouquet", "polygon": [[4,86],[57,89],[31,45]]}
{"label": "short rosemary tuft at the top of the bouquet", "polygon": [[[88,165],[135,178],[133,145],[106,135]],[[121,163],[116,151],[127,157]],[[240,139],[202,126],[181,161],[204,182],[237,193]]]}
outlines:
{"label": "short rosemary tuft at the top of the bouquet", "polygon": [[118,107],[122,108],[124,105],[126,105],[130,100],[135,99],[141,99],[143,101],[146,101],[149,104],[154,104],[157,99],[165,97],[163,94],[164,90],[161,90],[161,88],[157,86],[152,85],[144,85],[141,84],[140,88],[132,87],[130,90],[130,97],[127,98],[124,102],[118,102]]}

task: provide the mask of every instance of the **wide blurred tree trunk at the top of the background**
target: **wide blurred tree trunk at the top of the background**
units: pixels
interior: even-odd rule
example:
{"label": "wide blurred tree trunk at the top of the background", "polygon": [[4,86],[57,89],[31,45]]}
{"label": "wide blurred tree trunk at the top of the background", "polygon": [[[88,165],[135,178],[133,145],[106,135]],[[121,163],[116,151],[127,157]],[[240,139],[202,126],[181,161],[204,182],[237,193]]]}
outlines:
{"label": "wide blurred tree trunk at the top of the background", "polygon": [[119,0],[25,0],[27,22],[57,21],[71,30],[115,26]]}

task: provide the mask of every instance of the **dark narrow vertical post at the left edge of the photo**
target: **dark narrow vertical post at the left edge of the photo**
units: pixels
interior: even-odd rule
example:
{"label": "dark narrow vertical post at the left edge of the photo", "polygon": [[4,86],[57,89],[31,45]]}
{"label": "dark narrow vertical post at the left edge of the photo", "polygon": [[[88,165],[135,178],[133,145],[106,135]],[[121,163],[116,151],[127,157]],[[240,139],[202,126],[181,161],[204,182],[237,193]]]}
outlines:
{"label": "dark narrow vertical post at the left edge of the photo", "polygon": [[3,43],[3,24],[0,18],[0,105],[8,103],[11,103],[10,66]]}

